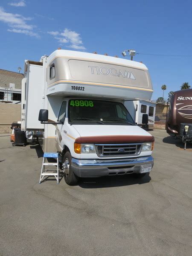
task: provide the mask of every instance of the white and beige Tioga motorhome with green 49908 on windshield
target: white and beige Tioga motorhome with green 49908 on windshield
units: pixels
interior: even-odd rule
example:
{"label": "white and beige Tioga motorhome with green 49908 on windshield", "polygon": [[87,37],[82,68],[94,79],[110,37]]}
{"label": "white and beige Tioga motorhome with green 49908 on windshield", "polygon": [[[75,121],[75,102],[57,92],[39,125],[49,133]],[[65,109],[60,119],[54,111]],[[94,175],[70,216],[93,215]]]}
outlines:
{"label": "white and beige Tioga motorhome with green 49908 on windshield", "polygon": [[144,64],[56,50],[39,62],[25,61],[24,72],[21,129],[39,131],[43,150],[61,154],[67,184],[78,177],[143,177],[151,171],[154,137],[123,105],[151,99]]}

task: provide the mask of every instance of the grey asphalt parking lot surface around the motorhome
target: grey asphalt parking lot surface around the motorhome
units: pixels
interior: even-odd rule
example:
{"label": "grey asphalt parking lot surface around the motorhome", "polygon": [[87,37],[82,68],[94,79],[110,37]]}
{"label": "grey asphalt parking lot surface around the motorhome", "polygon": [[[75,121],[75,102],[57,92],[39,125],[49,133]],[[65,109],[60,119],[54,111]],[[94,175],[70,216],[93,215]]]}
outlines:
{"label": "grey asphalt parking lot surface around the motorhome", "polygon": [[[3,256],[192,255],[192,146],[154,130],[154,168],[132,175],[38,184],[37,145],[0,137]],[[176,145],[175,145],[176,143]]]}

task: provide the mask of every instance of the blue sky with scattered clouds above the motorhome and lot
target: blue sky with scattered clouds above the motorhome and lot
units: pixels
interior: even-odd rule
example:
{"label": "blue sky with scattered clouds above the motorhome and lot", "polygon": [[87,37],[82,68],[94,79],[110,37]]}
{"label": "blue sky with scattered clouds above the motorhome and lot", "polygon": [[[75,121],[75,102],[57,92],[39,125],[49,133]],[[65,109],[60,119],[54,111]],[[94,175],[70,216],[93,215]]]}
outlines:
{"label": "blue sky with scattered clouds above the motorhome and lot", "polygon": [[[0,68],[17,72],[58,47],[122,57],[140,53],[192,55],[191,0],[1,0]],[[161,86],[192,86],[192,57],[136,55],[151,74],[152,99]],[[21,72],[22,72],[21,71]]]}

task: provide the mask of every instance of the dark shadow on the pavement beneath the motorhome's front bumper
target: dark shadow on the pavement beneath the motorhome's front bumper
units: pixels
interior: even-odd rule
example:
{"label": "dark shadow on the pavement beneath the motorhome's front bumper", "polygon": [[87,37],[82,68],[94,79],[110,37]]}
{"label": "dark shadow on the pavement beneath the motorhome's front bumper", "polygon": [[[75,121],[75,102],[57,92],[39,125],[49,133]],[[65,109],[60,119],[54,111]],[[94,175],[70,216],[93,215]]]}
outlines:
{"label": "dark shadow on the pavement beneath the motorhome's front bumper", "polygon": [[136,178],[133,174],[105,176],[99,178],[81,178],[78,185],[84,189],[110,188],[118,186],[130,186],[134,184],[144,184],[151,180],[149,174],[143,178]]}

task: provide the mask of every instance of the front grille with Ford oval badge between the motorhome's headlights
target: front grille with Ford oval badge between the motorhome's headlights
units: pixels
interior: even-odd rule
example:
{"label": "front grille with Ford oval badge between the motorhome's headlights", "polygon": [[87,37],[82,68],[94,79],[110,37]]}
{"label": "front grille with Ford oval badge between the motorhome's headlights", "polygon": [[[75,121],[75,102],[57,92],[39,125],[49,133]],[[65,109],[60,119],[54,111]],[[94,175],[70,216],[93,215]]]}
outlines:
{"label": "front grille with Ford oval badge between the motorhome's headlights", "polygon": [[122,157],[138,155],[141,150],[140,143],[135,144],[96,144],[99,157]]}

